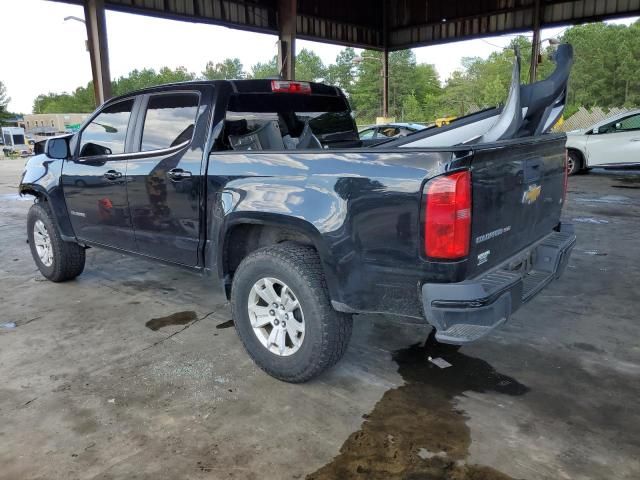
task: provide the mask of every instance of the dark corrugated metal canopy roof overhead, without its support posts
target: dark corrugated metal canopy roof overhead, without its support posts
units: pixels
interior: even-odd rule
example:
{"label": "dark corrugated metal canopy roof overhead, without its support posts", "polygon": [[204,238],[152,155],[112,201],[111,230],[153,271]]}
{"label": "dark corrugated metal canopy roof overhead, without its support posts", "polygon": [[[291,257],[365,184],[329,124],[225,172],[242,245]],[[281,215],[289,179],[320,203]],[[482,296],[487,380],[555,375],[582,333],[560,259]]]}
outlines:
{"label": "dark corrugated metal canopy roof overhead, without its support posts", "polygon": [[[83,0],[56,0],[82,5]],[[279,0],[104,0],[110,10],[279,33]],[[640,13],[640,0],[297,0],[296,36],[388,50]],[[386,21],[385,21],[386,19]]]}

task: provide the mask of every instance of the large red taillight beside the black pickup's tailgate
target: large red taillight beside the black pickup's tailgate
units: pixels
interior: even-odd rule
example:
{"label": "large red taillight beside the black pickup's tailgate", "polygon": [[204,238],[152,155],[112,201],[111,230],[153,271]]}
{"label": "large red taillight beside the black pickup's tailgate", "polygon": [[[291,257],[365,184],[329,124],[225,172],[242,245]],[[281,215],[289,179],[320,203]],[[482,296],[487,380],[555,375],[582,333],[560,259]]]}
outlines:
{"label": "large red taillight beside the black pickup's tailgate", "polygon": [[446,260],[467,256],[471,236],[471,172],[436,177],[427,183],[425,193],[425,254]]}

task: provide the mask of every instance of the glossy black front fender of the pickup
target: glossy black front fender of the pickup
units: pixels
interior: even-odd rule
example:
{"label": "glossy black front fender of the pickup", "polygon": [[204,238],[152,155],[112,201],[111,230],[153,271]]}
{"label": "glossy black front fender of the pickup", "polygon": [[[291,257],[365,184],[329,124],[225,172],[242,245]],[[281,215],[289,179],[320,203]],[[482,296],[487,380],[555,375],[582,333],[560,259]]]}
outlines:
{"label": "glossy black front fender of the pickup", "polygon": [[18,192],[20,195],[33,195],[48,201],[62,239],[75,242],[76,236],[60,183],[63,162],[64,160],[54,160],[45,154],[31,157],[22,172]]}

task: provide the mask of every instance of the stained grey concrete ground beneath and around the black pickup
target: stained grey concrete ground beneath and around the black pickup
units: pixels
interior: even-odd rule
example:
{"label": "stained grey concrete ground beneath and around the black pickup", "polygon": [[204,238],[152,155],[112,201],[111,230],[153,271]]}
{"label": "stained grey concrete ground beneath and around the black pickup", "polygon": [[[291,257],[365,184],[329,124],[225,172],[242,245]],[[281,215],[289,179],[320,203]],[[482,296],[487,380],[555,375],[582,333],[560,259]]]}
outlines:
{"label": "stained grey concrete ground beneath and around the black pickup", "polygon": [[498,333],[451,352],[358,317],[336,368],[288,385],[197,276],[92,249],[45,281],[23,163],[0,161],[1,479],[640,478],[637,173],[570,179],[569,268]]}

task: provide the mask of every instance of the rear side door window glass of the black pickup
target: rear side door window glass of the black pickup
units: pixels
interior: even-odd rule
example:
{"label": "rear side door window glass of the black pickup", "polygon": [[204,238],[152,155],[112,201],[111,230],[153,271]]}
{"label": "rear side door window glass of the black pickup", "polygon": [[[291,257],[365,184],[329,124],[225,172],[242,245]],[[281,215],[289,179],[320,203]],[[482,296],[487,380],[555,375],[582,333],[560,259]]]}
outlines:
{"label": "rear side door window glass of the black pickup", "polygon": [[140,150],[162,150],[190,141],[198,102],[197,93],[152,96],[145,114]]}

